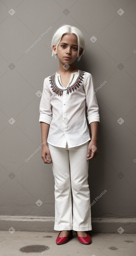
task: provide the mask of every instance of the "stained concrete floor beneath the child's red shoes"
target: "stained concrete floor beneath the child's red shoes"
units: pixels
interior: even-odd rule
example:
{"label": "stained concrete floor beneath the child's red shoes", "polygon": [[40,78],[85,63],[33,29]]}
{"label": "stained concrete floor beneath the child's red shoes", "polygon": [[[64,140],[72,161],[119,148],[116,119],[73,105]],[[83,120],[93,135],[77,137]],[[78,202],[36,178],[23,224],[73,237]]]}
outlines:
{"label": "stained concrete floor beneath the child's red shoes", "polygon": [[[14,232],[14,231],[13,231]],[[0,231],[0,256],[135,256],[136,234],[97,234],[91,235],[92,243],[79,243],[77,234],[62,245],[56,244],[59,232],[19,232]],[[48,249],[47,249],[48,247]]]}

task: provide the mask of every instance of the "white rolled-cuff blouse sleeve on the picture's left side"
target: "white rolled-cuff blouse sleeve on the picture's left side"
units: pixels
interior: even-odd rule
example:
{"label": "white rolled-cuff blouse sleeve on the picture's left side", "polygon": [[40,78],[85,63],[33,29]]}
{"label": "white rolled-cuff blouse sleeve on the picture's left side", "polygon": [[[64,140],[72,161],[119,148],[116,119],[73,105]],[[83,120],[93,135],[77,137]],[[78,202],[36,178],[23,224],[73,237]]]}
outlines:
{"label": "white rolled-cuff blouse sleeve on the picture's left side", "polygon": [[52,106],[51,106],[51,92],[48,86],[48,77],[45,78],[43,82],[43,91],[40,101],[40,118],[39,122],[45,122],[50,125],[51,120],[53,118],[52,116]]}

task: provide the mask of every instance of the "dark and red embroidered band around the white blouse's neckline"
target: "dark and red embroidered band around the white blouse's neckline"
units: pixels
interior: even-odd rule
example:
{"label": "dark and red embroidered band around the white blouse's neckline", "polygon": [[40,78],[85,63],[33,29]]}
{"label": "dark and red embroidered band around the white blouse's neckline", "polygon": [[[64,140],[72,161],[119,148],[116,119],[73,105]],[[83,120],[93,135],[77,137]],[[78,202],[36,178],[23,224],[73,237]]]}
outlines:
{"label": "dark and red embroidered band around the white blouse's neckline", "polygon": [[63,91],[67,91],[66,94],[69,95],[69,93],[72,93],[72,91],[74,92],[75,90],[77,90],[77,88],[79,88],[81,86],[81,83],[83,81],[83,75],[85,75],[85,72],[82,71],[82,70],[79,70],[79,76],[77,78],[77,80],[74,82],[74,84],[72,84],[70,87],[66,88],[66,89],[61,89],[61,88],[58,88],[58,86],[56,85],[56,82],[55,82],[55,74],[54,73],[53,75],[50,76],[50,84],[51,84],[51,88],[52,88],[52,91],[55,92],[58,96],[62,96],[63,95]]}

